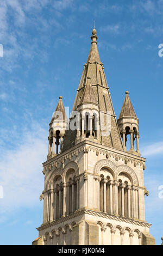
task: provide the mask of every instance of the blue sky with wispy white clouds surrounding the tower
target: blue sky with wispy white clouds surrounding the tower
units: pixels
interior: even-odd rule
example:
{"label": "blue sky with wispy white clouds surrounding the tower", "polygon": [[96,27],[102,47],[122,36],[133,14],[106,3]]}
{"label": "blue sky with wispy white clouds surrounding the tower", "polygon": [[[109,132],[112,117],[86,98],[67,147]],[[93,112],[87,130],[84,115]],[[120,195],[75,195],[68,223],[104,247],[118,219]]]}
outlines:
{"label": "blue sky with wispy white clouds surrounding the tower", "polygon": [[115,113],[126,90],[140,121],[147,157],[146,220],[156,244],[163,236],[163,0],[1,0],[0,241],[30,245],[42,223],[39,195],[48,123],[63,96],[72,107],[91,47],[93,20]]}

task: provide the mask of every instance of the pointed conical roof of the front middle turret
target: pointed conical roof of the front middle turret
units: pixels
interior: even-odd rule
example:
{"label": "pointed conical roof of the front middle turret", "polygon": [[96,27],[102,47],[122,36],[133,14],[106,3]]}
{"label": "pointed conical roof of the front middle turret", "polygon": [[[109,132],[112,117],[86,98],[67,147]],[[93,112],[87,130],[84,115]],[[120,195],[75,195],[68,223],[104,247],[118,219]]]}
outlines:
{"label": "pointed conical roof of the front middle turret", "polygon": [[97,104],[97,100],[96,100],[96,96],[95,93],[93,92],[93,88],[91,86],[91,78],[90,76],[87,77],[87,84],[86,87],[84,89],[82,98],[80,100],[80,103],[96,103]]}

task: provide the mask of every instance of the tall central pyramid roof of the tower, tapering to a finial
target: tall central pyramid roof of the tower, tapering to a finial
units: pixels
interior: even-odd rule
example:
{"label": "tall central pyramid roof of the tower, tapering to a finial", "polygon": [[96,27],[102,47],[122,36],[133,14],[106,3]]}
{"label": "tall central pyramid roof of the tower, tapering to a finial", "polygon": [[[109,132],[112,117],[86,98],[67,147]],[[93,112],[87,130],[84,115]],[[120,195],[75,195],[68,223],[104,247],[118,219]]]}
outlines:
{"label": "tall central pyramid roof of the tower, tapering to a finial", "polygon": [[[77,89],[76,99],[74,100],[72,111],[78,111],[81,102],[93,101],[98,105],[99,113],[103,112],[105,117],[110,113],[111,133],[107,136],[100,136],[99,144],[123,150],[120,131],[118,129],[116,115],[112,106],[109,87],[106,81],[103,63],[99,58],[97,48],[97,32],[93,28],[91,35],[91,49],[87,62],[84,64],[82,77]],[[91,80],[90,78],[91,77]],[[100,124],[102,121],[99,120]],[[99,131],[101,133],[101,131]],[[66,130],[62,152],[76,145],[77,131]]]}

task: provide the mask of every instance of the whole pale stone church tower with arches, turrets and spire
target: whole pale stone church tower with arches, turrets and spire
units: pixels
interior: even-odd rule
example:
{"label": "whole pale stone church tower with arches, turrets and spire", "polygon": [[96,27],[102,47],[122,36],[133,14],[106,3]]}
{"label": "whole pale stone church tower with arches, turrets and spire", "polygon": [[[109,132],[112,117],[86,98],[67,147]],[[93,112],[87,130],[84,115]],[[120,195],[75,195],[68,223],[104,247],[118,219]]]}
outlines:
{"label": "whole pale stone church tower with arches, turrets and spire", "polygon": [[71,117],[59,96],[49,124],[43,223],[33,245],[154,245],[139,119],[126,92],[116,120],[95,28],[91,40]]}

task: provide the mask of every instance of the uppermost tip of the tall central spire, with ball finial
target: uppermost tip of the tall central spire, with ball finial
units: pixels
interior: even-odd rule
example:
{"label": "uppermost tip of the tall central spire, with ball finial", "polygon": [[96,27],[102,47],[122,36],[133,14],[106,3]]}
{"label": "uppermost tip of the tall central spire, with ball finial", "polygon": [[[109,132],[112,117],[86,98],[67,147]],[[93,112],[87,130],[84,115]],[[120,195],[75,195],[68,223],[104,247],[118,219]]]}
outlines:
{"label": "uppermost tip of the tall central spire, with ball finial", "polygon": [[100,58],[99,58],[99,53],[98,53],[98,49],[97,49],[97,32],[96,32],[96,29],[93,28],[92,30],[92,36],[91,36],[91,39],[92,39],[92,46],[91,46],[91,50],[90,50],[90,53],[89,53],[89,56],[87,58],[87,62],[101,62],[100,61]]}

